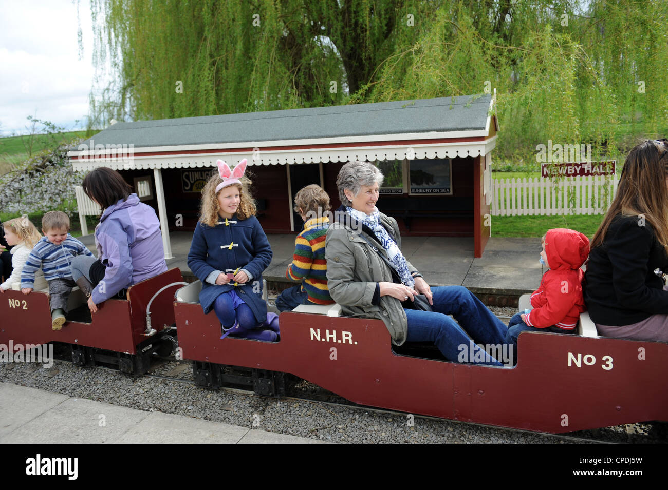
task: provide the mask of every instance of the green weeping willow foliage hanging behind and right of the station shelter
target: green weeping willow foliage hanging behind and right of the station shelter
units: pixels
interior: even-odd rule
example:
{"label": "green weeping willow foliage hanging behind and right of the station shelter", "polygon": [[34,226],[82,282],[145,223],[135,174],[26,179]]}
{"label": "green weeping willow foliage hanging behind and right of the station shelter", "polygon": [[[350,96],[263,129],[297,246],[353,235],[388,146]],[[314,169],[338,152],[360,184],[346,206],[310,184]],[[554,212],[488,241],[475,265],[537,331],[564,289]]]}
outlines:
{"label": "green weeping willow foliage hanging behind and right of the station shelter", "polygon": [[[92,0],[100,123],[496,89],[499,155],[665,135],[668,3]],[[102,123],[104,124],[104,123]],[[516,160],[516,158],[514,158]]]}

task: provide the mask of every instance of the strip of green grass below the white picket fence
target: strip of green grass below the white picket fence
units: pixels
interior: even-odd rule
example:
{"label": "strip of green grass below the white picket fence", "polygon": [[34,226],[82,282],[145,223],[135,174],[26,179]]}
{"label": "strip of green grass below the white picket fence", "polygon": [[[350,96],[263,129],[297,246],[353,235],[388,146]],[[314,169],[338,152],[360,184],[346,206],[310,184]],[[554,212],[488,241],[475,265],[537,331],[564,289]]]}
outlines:
{"label": "strip of green grass below the white picket fence", "polygon": [[570,228],[591,239],[603,215],[492,216],[492,237],[542,237],[548,229]]}

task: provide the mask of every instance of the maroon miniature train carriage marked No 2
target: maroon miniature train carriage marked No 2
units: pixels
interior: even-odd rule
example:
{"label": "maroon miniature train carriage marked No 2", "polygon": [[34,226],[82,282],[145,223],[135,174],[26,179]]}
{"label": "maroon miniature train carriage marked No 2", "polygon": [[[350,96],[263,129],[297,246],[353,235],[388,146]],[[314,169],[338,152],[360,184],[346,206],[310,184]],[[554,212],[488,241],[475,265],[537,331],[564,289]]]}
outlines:
{"label": "maroon miniature train carriage marked No 2", "polygon": [[180,271],[170,269],[128,288],[126,299],[104,301],[94,315],[88,311],[86,297],[75,287],[60,331],[51,329],[48,288],[29,295],[5,291],[0,297],[0,343],[10,353],[49,342],[65,343],[71,345],[72,360],[78,365],[107,363],[127,373],[143,373],[150,353],[172,351],[165,327],[174,324],[172,301],[178,284],[162,291],[151,303],[154,333],[147,331],[146,307],[157,291],[178,281],[182,281]]}

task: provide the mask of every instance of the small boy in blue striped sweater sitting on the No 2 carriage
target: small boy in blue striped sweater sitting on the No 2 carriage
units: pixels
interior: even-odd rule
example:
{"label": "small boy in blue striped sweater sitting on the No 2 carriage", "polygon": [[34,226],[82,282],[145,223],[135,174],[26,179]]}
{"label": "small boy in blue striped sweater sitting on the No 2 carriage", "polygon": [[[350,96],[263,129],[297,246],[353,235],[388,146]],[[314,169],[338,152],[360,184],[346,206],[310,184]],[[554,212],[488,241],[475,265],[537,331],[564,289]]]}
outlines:
{"label": "small boy in blue striped sweater sitting on the No 2 carriage", "polygon": [[49,283],[51,328],[60,330],[67,314],[67,298],[76,285],[70,264],[76,255],[94,257],[90,250],[69,233],[69,217],[62,211],[49,211],[42,217],[44,237],[37,242],[21,272],[21,292],[30,294],[35,286],[35,272],[41,267]]}

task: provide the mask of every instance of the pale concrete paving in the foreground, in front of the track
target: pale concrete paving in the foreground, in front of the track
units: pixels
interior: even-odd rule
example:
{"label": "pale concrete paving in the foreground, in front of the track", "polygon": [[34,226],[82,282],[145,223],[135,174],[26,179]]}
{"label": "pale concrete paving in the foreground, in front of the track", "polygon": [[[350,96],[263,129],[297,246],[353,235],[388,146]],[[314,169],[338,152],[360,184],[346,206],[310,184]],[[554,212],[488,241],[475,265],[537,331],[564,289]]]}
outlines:
{"label": "pale concrete paving in the foreground, in front of the track", "polygon": [[323,441],[182,415],[116,407],[0,383],[0,443],[317,444]]}

